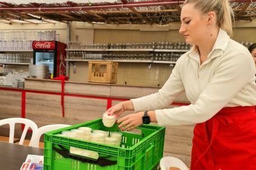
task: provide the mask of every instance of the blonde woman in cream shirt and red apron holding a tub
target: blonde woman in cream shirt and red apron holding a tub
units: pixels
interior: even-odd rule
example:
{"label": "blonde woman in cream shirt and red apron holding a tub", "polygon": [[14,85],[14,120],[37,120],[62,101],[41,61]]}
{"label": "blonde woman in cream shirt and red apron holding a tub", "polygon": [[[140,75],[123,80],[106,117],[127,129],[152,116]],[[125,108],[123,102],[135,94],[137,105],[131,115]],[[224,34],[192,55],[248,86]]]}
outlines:
{"label": "blonde woman in cream shirt and red apron holding a tub", "polygon": [[[248,49],[230,39],[231,13],[228,0],[186,0],[180,33],[193,47],[158,93],[108,109],[116,116],[136,112],[117,121],[123,131],[150,121],[196,124],[191,170],[256,169],[255,65]],[[163,110],[183,92],[191,105]]]}

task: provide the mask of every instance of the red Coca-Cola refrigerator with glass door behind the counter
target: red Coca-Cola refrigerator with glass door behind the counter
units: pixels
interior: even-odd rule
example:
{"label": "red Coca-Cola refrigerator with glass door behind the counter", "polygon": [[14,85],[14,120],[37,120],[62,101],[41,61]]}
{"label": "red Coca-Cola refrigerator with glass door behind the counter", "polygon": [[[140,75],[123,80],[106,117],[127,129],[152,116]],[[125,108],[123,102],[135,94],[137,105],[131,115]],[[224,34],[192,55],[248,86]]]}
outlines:
{"label": "red Coca-Cola refrigerator with glass door behind the counter", "polygon": [[33,41],[34,65],[49,65],[53,77],[66,74],[66,44],[58,41]]}

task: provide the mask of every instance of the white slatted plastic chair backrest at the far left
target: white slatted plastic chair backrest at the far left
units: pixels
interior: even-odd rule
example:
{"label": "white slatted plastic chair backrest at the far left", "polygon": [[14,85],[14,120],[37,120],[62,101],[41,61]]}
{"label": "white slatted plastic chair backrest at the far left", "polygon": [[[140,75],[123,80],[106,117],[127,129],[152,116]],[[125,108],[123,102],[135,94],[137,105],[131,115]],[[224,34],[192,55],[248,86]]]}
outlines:
{"label": "white slatted plastic chair backrest at the far left", "polygon": [[[38,129],[35,122],[33,122],[29,119],[19,118],[19,117],[0,120],[0,126],[1,125],[6,125],[6,124],[10,125],[9,143],[13,143],[15,124],[25,124],[25,128],[24,128],[23,133],[22,133],[21,138],[20,138],[20,143],[19,143],[20,145],[23,145],[26,133],[28,132],[29,128],[32,129],[33,134]],[[33,134],[32,134],[31,138],[33,138]]]}

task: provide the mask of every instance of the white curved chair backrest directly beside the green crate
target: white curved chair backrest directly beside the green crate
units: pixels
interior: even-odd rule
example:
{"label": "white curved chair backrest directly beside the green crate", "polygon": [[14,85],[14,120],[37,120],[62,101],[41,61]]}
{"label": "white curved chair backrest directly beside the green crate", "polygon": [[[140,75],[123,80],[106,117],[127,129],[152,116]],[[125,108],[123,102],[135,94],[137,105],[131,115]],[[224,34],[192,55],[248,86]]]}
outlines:
{"label": "white curved chair backrest directly beside the green crate", "polygon": [[40,137],[47,131],[52,131],[56,129],[66,128],[71,125],[55,124],[55,125],[46,125],[38,128],[35,134],[32,136],[29,146],[39,148]]}

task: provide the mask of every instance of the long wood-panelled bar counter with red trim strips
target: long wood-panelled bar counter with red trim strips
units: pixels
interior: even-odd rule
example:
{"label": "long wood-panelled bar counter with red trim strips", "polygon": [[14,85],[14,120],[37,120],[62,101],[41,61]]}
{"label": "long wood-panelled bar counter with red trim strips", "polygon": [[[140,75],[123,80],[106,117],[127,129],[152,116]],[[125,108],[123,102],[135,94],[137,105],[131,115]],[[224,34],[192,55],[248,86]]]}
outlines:
{"label": "long wood-panelled bar counter with red trim strips", "polygon": [[[0,86],[0,120],[24,117],[33,120],[38,128],[49,124],[75,125],[99,119],[107,108],[131,98],[151,95],[161,88],[65,81],[62,93],[61,84],[61,81],[25,78],[25,88]],[[167,108],[189,103],[184,93]],[[126,111],[122,116],[132,113]],[[166,127],[164,155],[180,158],[190,166],[193,128],[194,125]],[[18,138],[20,129],[20,126],[15,128]],[[7,126],[1,126],[0,130],[0,135],[9,133]]]}

